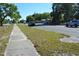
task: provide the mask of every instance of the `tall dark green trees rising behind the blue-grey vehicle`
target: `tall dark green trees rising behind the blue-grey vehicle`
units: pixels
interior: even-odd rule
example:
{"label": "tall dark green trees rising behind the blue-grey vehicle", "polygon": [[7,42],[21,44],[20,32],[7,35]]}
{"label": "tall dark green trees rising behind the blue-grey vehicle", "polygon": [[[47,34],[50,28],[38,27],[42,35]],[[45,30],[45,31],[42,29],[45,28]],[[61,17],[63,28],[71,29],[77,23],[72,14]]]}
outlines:
{"label": "tall dark green trees rising behind the blue-grey vehicle", "polygon": [[73,18],[79,19],[79,4],[53,3],[50,15],[53,17],[52,22],[55,24],[67,22]]}

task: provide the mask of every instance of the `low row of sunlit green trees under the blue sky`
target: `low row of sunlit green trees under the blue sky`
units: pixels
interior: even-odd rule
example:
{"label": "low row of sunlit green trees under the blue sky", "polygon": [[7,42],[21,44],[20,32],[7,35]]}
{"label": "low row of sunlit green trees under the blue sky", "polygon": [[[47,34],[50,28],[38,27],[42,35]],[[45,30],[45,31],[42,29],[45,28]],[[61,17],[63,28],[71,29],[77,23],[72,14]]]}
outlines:
{"label": "low row of sunlit green trees under the blue sky", "polygon": [[50,13],[34,13],[33,15],[29,15],[26,17],[28,21],[41,21],[42,19],[51,19]]}

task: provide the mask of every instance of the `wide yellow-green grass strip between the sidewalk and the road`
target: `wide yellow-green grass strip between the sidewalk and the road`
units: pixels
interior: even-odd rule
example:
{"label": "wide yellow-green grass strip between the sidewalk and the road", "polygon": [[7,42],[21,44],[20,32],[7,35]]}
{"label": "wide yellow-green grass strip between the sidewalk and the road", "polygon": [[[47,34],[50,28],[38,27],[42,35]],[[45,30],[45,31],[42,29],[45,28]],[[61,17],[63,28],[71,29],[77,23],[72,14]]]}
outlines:
{"label": "wide yellow-green grass strip between the sidewalk and the road", "polygon": [[24,24],[19,24],[18,26],[32,41],[34,47],[42,56],[79,55],[79,43],[65,43],[59,41],[60,38],[66,35],[31,28]]}

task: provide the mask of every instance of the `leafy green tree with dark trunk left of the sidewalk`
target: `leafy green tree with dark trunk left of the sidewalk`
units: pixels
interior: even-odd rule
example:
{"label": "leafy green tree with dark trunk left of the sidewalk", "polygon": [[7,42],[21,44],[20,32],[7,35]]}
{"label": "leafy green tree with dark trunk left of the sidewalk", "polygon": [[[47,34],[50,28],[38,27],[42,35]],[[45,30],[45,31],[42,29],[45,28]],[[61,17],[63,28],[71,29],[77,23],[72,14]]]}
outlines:
{"label": "leafy green tree with dark trunk left of the sidewalk", "polygon": [[14,14],[18,14],[17,7],[14,4],[0,3],[0,26],[3,25],[3,21],[7,16],[12,19],[18,18],[15,17]]}

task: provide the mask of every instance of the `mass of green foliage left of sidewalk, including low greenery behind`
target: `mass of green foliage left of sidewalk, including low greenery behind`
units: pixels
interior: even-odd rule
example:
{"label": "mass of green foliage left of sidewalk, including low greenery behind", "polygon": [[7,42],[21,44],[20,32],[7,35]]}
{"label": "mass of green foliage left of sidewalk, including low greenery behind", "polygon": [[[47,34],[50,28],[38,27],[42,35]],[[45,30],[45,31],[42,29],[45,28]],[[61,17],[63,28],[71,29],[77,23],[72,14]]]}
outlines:
{"label": "mass of green foliage left of sidewalk, including low greenery behind", "polygon": [[[21,16],[17,9],[15,4],[0,3],[0,26],[3,26],[6,22],[15,23],[15,21],[18,21]],[[12,20],[10,21],[7,17],[10,17]]]}

